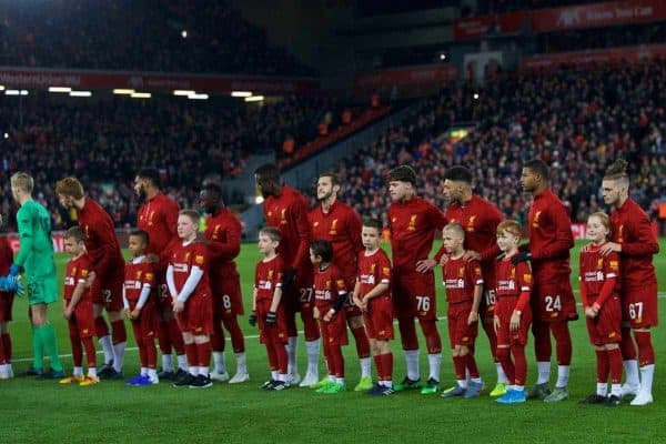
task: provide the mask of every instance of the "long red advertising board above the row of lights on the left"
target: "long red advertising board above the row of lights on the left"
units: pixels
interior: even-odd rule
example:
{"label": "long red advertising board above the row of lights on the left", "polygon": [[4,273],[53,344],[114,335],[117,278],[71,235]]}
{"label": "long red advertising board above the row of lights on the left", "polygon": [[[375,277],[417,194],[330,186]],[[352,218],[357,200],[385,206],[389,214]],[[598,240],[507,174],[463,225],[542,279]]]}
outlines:
{"label": "long red advertising board above the row of lights on the left", "polygon": [[319,80],[269,77],[162,74],[155,72],[72,71],[0,68],[6,88],[70,87],[75,90],[134,89],[138,91],[194,90],[208,93],[252,91],[265,94],[303,94],[320,90]]}

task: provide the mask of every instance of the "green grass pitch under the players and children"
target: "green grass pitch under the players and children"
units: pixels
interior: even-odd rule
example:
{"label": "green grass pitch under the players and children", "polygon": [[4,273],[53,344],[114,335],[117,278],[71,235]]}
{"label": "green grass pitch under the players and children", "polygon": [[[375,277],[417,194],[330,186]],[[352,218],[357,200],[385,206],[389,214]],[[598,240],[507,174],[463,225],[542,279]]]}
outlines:
{"label": "green grass pitch under the players and children", "polygon": [[[660,310],[666,290],[666,242],[655,262],[659,276]],[[577,276],[577,250],[574,252]],[[243,282],[245,305],[251,299],[252,276],[259,254],[254,244],[243,245],[239,269]],[[58,256],[62,274],[67,261]],[[440,271],[437,271],[440,273]],[[577,285],[574,283],[574,287]],[[445,313],[443,289],[437,289],[440,315]],[[17,300],[11,323],[14,370],[29,365],[30,333],[23,300]],[[59,334],[61,354],[70,353],[67,325],[60,303],[50,309],[50,319]],[[446,329],[440,322],[443,344]],[[582,406],[577,401],[595,389],[594,352],[587,342],[584,322],[572,324],[574,362],[571,373],[571,400],[555,405],[528,402],[503,406],[491,401],[487,391],[476,400],[443,400],[401,393],[389,398],[375,398],[352,391],[340,395],[317,395],[307,389],[266,393],[258,390],[266,379],[265,352],[256,339],[256,330],[241,325],[248,335],[248,365],[251,382],[194,391],[173,389],[167,382],[154,387],[128,387],[122,382],[102,382],[93,387],[60,386],[57,382],[13,379],[0,382],[0,443],[278,443],[278,442],[364,442],[364,443],[572,443],[572,442],[663,442],[660,427],[666,414],[666,344],[663,329],[653,333],[657,353],[655,403],[643,408],[624,403],[618,408]],[[128,329],[128,334],[131,329]],[[396,329],[397,333],[397,329]],[[531,339],[532,341],[532,339]],[[353,340],[345,350],[347,381],[359,379],[359,363]],[[423,344],[423,341],[422,341]],[[305,370],[302,342],[299,363]],[[392,343],[395,352],[395,379],[405,374],[400,341]],[[133,340],[130,340],[133,347]],[[532,342],[528,347],[528,383],[535,379]],[[483,332],[477,340],[477,360],[486,385],[495,383],[495,367],[488,356]],[[71,369],[71,357],[64,357]],[[228,341],[228,365],[235,367]],[[125,375],[138,370],[138,354],[130,350],[125,359]],[[321,365],[323,374],[324,365]],[[427,361],[421,354],[422,376]],[[553,376],[556,369],[553,366]],[[453,365],[444,351],[442,384],[453,382]]]}

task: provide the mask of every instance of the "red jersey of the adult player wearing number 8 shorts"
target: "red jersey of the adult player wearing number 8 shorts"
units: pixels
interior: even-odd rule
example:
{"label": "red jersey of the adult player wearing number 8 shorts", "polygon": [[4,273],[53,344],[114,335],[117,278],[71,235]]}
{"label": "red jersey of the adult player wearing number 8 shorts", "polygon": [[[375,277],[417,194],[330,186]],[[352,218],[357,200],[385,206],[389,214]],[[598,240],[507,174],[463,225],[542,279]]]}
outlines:
{"label": "red jersey of the adult player wearing number 8 shorts", "polygon": [[223,279],[236,272],[234,259],[241,252],[241,221],[228,208],[205,218],[211,279]]}

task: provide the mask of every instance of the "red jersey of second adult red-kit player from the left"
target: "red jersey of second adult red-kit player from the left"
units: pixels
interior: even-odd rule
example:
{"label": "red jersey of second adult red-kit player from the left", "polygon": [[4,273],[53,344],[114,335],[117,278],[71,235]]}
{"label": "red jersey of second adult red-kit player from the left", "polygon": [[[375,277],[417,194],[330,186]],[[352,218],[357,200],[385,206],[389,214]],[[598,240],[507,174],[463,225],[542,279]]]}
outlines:
{"label": "red jersey of second adult red-kit player from the left", "polygon": [[137,228],[148,233],[147,253],[160,256],[160,268],[169,261],[169,249],[179,242],[179,206],[175,201],[162,193],[155,194],[137,210]]}

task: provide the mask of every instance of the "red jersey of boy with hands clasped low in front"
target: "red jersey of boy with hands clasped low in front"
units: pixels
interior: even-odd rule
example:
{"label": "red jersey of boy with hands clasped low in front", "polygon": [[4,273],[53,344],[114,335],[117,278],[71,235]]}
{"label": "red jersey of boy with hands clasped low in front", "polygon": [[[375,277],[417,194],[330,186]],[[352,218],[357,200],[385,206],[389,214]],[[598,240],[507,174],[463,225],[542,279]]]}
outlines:
{"label": "red jersey of boy with hands clasped low in front", "polygon": [[201,276],[201,280],[196,284],[194,291],[190,294],[188,301],[198,295],[210,294],[208,276],[209,258],[206,246],[203,243],[193,241],[186,245],[183,245],[182,243],[176,244],[171,250],[169,265],[173,266],[173,283],[179,293],[185,285],[185,281],[190,278],[190,273],[194,266],[203,270],[203,276]]}

